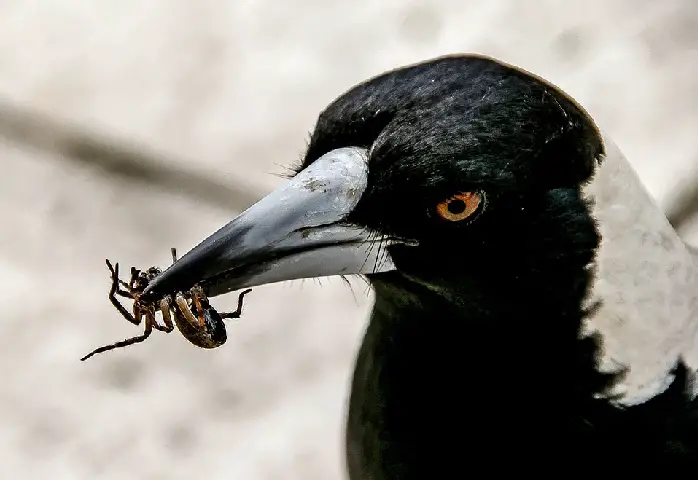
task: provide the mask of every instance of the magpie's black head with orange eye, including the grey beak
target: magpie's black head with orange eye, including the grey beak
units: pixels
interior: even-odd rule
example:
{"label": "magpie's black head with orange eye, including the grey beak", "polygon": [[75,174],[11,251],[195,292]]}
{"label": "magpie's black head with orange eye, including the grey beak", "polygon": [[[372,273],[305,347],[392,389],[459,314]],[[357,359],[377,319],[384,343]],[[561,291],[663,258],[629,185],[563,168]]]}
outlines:
{"label": "magpie's black head with orange eye, including the grey beak", "polygon": [[146,295],[352,274],[455,295],[577,271],[598,244],[580,188],[603,153],[589,115],[519,68],[473,55],[398,68],[328,105],[292,178]]}

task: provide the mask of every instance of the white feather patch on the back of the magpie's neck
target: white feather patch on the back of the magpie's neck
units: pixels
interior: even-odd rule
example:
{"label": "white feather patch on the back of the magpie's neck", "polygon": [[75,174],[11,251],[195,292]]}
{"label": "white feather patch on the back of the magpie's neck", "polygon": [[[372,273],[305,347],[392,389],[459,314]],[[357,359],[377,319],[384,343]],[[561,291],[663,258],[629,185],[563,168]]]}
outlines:
{"label": "white feather patch on the back of the magpie's neck", "polygon": [[601,233],[586,333],[603,337],[602,369],[629,368],[614,393],[632,405],[661,393],[679,357],[698,369],[698,275],[693,257],[618,147],[584,188]]}

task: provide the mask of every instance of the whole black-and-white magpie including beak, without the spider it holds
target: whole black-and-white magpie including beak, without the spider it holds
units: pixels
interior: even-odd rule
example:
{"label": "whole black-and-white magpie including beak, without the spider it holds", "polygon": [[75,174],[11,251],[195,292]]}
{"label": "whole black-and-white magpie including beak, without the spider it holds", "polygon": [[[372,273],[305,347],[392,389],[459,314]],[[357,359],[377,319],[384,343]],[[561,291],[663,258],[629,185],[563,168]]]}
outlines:
{"label": "whole black-and-white magpie including beak, without the spider it holds", "polygon": [[376,293],[350,478],[698,466],[693,260],[544,80],[462,55],[351,88],[296,175],[146,295],[338,274]]}

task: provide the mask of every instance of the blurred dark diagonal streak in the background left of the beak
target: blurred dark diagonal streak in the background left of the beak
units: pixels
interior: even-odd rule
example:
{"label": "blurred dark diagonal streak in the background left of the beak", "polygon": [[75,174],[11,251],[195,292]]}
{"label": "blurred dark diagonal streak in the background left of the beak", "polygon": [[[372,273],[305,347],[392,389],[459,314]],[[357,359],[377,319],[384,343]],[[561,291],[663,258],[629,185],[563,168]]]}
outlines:
{"label": "blurred dark diagonal streak in the background left of the beak", "polygon": [[96,167],[227,210],[244,210],[262,196],[249,187],[220,183],[195,168],[181,167],[185,162],[172,162],[142,145],[129,146],[5,100],[0,100],[0,138],[53,153],[52,158],[59,161]]}

